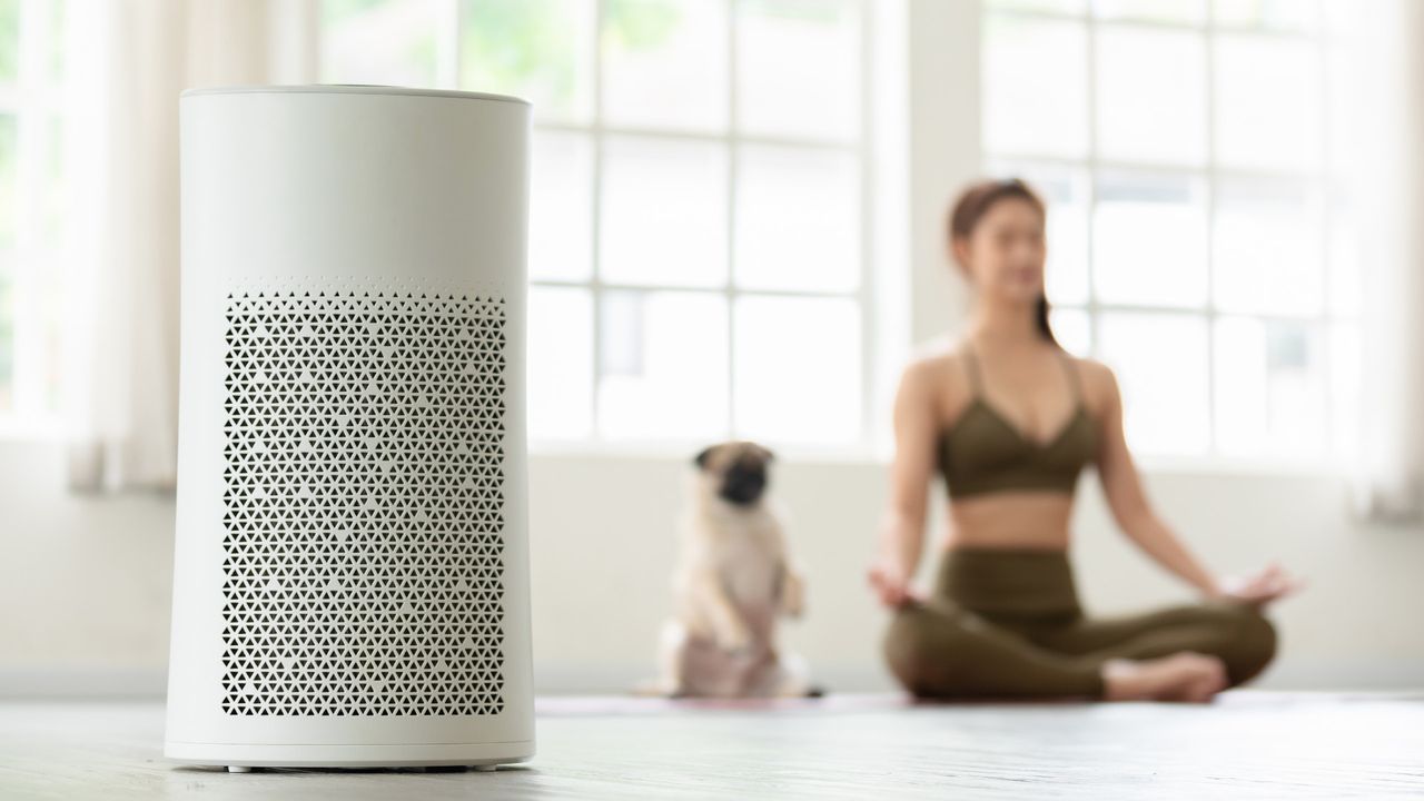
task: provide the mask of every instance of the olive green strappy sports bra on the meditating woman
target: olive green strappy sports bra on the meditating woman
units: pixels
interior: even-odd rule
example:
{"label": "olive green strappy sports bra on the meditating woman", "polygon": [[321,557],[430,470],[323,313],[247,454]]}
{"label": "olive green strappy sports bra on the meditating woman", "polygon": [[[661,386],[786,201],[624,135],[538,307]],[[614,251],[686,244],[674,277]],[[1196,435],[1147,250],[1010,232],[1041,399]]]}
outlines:
{"label": "olive green strappy sports bra on the meditating woman", "polygon": [[950,497],[995,490],[1047,489],[1072,495],[1084,465],[1098,456],[1096,420],[1082,403],[1078,373],[1062,352],[1077,409],[1045,443],[1025,438],[984,402],[978,359],[965,345],[974,399],[940,433],[940,470]]}

